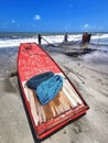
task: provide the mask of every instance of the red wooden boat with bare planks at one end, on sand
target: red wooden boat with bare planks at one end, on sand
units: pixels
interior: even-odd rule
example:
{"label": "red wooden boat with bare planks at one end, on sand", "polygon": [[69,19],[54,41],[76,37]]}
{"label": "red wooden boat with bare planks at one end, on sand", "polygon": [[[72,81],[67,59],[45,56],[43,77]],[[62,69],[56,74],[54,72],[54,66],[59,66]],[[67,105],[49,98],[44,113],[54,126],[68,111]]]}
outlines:
{"label": "red wooden boat with bare planks at one end, on sand", "polygon": [[[47,72],[61,76],[63,85],[52,100],[42,105],[35,90],[28,87],[26,82],[34,76]],[[37,139],[46,138],[69,121],[82,117],[88,110],[88,105],[64,72],[36,43],[22,43],[20,45],[18,77],[24,105]]]}

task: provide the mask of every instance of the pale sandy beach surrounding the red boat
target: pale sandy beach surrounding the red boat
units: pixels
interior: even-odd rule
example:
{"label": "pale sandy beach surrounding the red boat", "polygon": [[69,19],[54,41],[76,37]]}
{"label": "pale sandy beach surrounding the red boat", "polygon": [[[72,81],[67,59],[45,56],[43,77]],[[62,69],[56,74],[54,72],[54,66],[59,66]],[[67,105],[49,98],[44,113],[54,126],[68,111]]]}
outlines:
{"label": "pale sandy beach surrounding the red boat", "polygon": [[[28,121],[18,77],[9,76],[12,70],[17,70],[18,48],[9,54],[6,54],[7,51],[4,51],[0,57],[0,143],[108,142],[108,58],[100,58],[95,55],[95,52],[94,58],[89,54],[78,57],[65,55],[64,52],[69,51],[72,46],[76,47],[76,45],[47,46],[44,50],[83,95],[89,106],[87,114],[47,139],[37,141]],[[6,73],[2,72],[2,68]]]}

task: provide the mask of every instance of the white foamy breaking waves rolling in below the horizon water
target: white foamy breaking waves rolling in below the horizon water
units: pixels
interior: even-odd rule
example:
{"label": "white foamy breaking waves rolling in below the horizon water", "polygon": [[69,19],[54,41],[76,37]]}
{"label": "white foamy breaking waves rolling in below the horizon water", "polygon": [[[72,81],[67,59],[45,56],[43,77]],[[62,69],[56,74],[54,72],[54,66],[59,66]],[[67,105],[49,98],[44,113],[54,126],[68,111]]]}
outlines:
{"label": "white foamy breaking waves rolling in below the horizon water", "polygon": [[[64,35],[42,35],[42,44],[48,43],[62,43],[64,41]],[[46,40],[46,41],[44,41]],[[20,43],[37,43],[37,36],[33,35],[0,35],[0,47],[14,47],[19,46]],[[71,34],[68,42],[82,42],[82,34]],[[91,36],[90,43],[93,45],[108,46],[108,34],[94,34]]]}

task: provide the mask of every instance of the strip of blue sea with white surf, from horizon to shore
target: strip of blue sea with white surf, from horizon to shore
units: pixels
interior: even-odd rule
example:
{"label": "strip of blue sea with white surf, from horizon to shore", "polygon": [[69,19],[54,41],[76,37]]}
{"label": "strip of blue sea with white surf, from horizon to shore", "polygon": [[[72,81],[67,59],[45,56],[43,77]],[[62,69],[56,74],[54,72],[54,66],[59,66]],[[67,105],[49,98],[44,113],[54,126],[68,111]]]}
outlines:
{"label": "strip of blue sea with white surf, from horizon to shore", "polygon": [[[8,32],[0,33],[0,47],[12,47],[19,46],[20,43],[26,42],[35,42],[37,43],[37,34],[39,33],[25,33],[25,32]],[[64,41],[65,33],[41,33],[42,37],[44,37],[48,43],[62,43]],[[82,42],[82,33],[68,33],[68,41],[79,41]],[[108,33],[93,33],[90,42],[93,44],[104,44],[108,45]],[[42,44],[47,44],[44,40],[42,40]]]}

